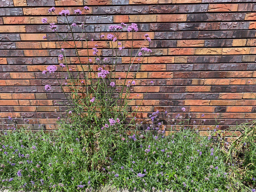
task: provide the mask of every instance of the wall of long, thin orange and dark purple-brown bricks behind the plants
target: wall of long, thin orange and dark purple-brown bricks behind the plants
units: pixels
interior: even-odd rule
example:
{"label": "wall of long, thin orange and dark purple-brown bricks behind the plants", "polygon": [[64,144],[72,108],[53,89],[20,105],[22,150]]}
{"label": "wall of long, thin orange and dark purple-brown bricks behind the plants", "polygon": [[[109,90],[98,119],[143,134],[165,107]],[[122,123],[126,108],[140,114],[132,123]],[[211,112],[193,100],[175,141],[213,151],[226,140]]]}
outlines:
{"label": "wall of long, thin orange and dark purple-brown bricks behind the plants", "polygon": [[[90,8],[86,18],[88,38],[94,38],[104,54],[109,44],[100,40],[110,24],[137,23],[139,41],[148,33],[152,41],[150,56],[145,57],[136,76],[135,94],[139,98],[150,87],[142,103],[145,118],[157,109],[171,118],[186,108],[197,123],[204,113],[205,126],[218,119],[222,129],[255,119],[256,100],[256,3],[255,0],[0,0],[0,115],[30,126],[54,128],[64,111],[65,97],[59,90],[45,92],[44,85],[56,86],[46,66],[57,64],[59,47],[49,26],[41,19],[56,22],[48,13],[62,9]],[[65,33],[65,26],[57,30]],[[53,42],[43,40],[43,36]],[[130,33],[123,33],[131,41]],[[92,44],[93,46],[94,44]],[[81,43],[80,49],[84,44]],[[74,50],[68,58],[76,67]],[[124,51],[119,66],[125,63]],[[92,54],[92,53],[91,53]],[[120,67],[121,70],[122,66]],[[250,83],[248,83],[250,81]],[[140,100],[134,101],[134,105]]]}

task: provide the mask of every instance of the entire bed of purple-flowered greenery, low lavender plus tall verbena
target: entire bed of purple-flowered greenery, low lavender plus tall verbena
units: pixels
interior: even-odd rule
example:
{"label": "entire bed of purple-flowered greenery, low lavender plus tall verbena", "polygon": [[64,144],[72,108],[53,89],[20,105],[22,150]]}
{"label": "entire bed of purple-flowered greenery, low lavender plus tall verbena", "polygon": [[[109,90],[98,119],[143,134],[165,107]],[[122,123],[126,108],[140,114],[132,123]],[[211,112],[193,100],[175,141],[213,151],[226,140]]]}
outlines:
{"label": "entire bed of purple-flowered greenery, low lavender plus tall verbena", "polygon": [[[49,9],[54,11],[54,7]],[[143,96],[132,89],[144,56],[151,52],[143,47],[150,37],[145,34],[139,44],[132,39],[130,46],[120,37],[124,30],[133,35],[137,25],[110,25],[111,32],[100,37],[111,47],[102,58],[98,49],[102,41],[88,40],[85,23],[74,22],[82,12],[74,13],[69,16],[63,10],[58,16],[69,29],[67,36],[58,33],[58,25],[50,24],[61,49],[61,63],[43,71],[59,83],[59,87],[46,85],[45,90],[60,88],[65,94],[70,108],[67,117],[59,118],[54,134],[19,128],[9,117],[10,126],[1,134],[2,189],[87,192],[114,185],[130,191],[255,191],[255,122],[238,126],[242,134],[233,141],[231,137],[230,143],[226,134],[231,132],[218,130],[218,125],[207,130],[207,137],[200,136],[198,126],[188,126],[184,114],[170,119],[168,112],[156,111],[138,122],[135,116],[140,105],[130,105],[135,98],[142,102]],[[47,18],[42,21],[47,23]],[[81,36],[77,38],[74,31]],[[80,38],[85,52],[79,49]],[[75,50],[76,68],[69,64],[69,49],[62,45]],[[119,64],[119,56],[128,49],[131,55],[125,65]],[[87,57],[80,56],[81,52]],[[159,114],[165,115],[166,123]],[[145,124],[149,126],[143,128]]]}

